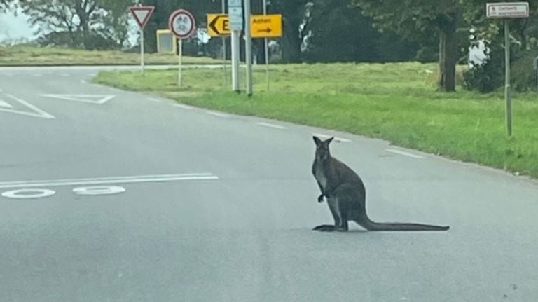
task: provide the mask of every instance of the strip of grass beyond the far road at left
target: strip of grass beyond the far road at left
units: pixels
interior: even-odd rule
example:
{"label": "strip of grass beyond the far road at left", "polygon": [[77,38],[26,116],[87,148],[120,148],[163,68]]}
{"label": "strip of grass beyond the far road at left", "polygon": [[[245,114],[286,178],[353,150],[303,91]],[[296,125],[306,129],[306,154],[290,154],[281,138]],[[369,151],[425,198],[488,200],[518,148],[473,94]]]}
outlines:
{"label": "strip of grass beyond the far road at left", "polygon": [[[146,53],[146,64],[177,64],[172,54]],[[185,64],[219,64],[209,57],[184,57]],[[0,66],[20,65],[87,65],[140,64],[139,53],[113,50],[80,50],[36,46],[0,46]]]}

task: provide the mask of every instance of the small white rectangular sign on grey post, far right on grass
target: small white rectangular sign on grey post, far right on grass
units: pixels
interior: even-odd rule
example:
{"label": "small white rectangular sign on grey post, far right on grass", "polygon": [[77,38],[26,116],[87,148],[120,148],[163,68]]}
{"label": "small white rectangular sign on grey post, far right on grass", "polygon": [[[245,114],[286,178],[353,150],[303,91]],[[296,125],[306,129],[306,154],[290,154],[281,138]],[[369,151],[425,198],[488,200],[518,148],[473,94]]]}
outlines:
{"label": "small white rectangular sign on grey post, far right on grass", "polygon": [[504,21],[504,102],[506,135],[512,135],[512,95],[510,90],[510,28],[509,18],[528,18],[528,2],[494,2],[485,4],[488,18],[502,18]]}

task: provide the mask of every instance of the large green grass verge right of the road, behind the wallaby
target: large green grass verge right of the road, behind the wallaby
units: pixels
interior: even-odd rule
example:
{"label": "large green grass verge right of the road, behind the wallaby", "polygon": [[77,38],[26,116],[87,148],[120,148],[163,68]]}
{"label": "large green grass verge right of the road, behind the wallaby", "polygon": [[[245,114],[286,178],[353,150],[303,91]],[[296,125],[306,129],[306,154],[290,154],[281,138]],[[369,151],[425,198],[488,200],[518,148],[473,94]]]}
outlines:
{"label": "large green grass verge right of the road, behind the wallaby", "polygon": [[[460,70],[462,68],[460,67]],[[96,83],[147,90],[197,107],[387,139],[429,153],[538,177],[538,95],[513,98],[513,136],[502,92],[436,92],[435,64],[295,64],[255,69],[254,97],[223,89],[222,69],[104,71]]]}

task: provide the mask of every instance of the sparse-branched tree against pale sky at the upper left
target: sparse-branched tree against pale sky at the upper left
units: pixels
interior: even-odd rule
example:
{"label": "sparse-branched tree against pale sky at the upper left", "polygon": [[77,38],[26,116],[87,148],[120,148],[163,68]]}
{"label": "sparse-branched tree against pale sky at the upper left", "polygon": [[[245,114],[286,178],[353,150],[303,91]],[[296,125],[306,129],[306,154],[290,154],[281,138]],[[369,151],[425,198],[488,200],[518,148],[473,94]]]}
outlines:
{"label": "sparse-branched tree against pale sky at the upper left", "polygon": [[[40,32],[67,32],[72,47],[101,48],[110,39],[123,44],[127,36],[126,8],[132,0],[32,0],[20,1]],[[122,34],[123,33],[123,34]],[[50,36],[50,34],[48,34]],[[102,43],[97,43],[104,41]]]}

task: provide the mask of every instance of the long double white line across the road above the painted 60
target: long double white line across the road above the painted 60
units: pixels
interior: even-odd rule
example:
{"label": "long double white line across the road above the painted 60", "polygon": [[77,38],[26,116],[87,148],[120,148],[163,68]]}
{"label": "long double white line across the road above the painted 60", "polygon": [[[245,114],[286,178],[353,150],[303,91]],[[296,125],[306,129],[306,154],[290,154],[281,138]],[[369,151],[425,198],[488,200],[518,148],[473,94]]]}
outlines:
{"label": "long double white line across the road above the painted 60", "polygon": [[78,186],[97,184],[135,184],[140,182],[182,181],[182,180],[210,180],[219,179],[212,173],[191,174],[157,174],[127,177],[100,177],[81,179],[53,179],[39,181],[4,181],[0,188],[30,188],[36,186]]}

